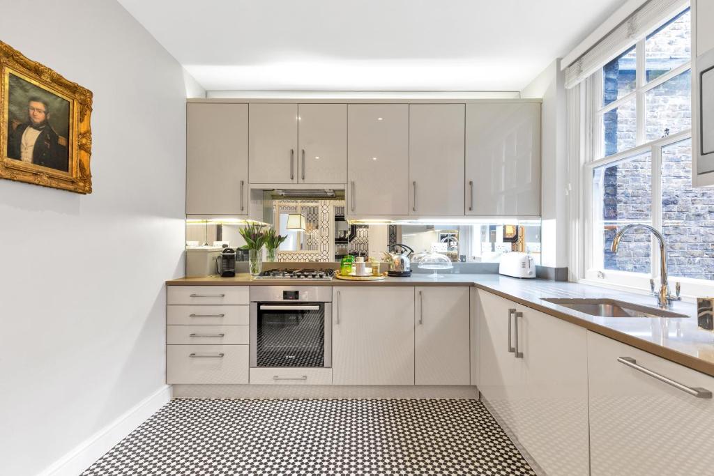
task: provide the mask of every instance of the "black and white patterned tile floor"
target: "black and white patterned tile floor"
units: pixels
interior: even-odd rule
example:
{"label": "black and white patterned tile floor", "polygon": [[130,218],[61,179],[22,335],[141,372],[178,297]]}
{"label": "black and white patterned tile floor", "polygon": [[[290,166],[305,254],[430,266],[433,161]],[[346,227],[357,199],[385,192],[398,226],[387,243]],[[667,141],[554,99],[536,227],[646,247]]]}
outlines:
{"label": "black and white patterned tile floor", "polygon": [[82,476],[534,475],[478,400],[173,400]]}

